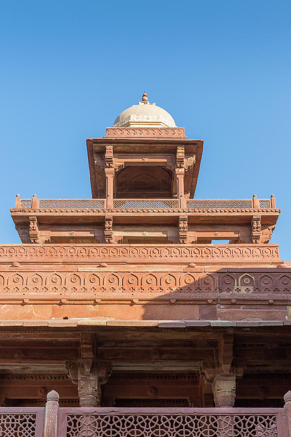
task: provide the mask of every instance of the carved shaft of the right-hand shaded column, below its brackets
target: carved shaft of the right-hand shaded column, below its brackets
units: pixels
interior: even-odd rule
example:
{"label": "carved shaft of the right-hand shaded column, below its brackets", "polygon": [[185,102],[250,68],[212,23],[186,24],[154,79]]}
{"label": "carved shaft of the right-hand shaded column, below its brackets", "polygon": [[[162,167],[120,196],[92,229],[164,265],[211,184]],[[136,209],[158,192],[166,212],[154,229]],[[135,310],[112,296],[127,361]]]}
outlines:
{"label": "carved shaft of the right-hand shaded column, below its brackets", "polygon": [[233,407],[235,402],[236,377],[216,376],[212,383],[212,391],[216,407]]}

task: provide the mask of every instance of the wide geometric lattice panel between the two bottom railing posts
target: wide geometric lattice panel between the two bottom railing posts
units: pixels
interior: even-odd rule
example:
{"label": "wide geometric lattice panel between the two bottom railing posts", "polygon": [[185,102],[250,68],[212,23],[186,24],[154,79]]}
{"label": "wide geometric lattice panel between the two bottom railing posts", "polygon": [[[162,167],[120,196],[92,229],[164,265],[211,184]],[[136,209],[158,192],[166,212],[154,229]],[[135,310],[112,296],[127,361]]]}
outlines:
{"label": "wide geometric lattice panel between the two bottom railing posts", "polygon": [[234,414],[75,414],[67,437],[277,436],[276,416]]}

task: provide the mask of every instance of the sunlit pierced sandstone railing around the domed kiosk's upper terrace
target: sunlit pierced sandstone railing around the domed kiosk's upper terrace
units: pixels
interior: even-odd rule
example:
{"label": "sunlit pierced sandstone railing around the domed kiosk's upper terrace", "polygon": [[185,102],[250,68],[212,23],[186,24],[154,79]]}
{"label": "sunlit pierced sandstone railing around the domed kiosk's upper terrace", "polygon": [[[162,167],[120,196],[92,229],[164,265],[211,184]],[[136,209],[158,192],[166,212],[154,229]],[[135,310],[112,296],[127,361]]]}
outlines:
{"label": "sunlit pierced sandstone railing around the domed kiosk's upper terrace", "polygon": [[[168,211],[188,210],[254,210],[275,209],[275,197],[271,199],[113,199],[110,209],[118,211]],[[17,210],[104,210],[109,204],[106,199],[20,199],[16,196],[15,208]]]}

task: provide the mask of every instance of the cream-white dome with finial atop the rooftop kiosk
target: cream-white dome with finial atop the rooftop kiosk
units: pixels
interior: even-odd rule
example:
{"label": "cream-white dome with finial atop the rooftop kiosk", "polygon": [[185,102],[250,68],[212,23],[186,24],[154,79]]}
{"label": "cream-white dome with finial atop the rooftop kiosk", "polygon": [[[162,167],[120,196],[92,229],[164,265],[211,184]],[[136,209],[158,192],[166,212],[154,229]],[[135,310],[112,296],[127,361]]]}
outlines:
{"label": "cream-white dome with finial atop the rooftop kiosk", "polygon": [[115,127],[176,127],[175,121],[170,114],[156,103],[147,101],[146,93],[143,95],[143,101],[138,105],[132,105],[130,108],[122,111],[114,121]]}

